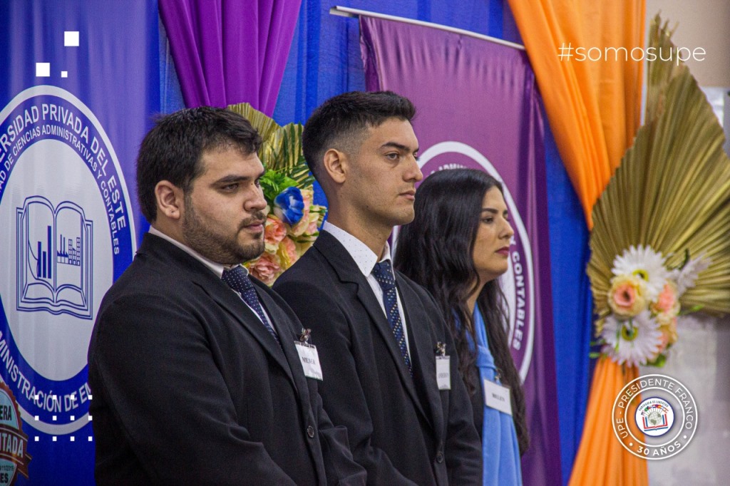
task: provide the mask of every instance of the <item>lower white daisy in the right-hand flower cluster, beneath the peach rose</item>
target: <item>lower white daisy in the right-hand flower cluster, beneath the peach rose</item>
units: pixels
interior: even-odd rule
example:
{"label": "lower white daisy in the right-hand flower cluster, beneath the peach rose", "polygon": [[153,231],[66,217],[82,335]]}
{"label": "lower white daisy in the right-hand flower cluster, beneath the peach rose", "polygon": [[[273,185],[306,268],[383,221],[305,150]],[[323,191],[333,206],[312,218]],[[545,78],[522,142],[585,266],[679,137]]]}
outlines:
{"label": "lower white daisy in the right-hand flower cluster, beneath the peach rose", "polygon": [[601,333],[603,352],[618,364],[645,365],[656,358],[662,345],[659,323],[648,310],[628,320],[606,317]]}

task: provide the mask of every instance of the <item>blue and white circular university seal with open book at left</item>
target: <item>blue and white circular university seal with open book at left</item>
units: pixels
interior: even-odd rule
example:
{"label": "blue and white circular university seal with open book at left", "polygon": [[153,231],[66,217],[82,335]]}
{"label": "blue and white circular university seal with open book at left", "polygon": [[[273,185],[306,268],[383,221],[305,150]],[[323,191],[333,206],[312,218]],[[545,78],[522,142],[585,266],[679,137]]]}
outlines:
{"label": "blue and white circular university seal with open book at left", "polygon": [[101,298],[134,256],[131,205],[91,109],[55,86],[0,112],[0,376],[38,431],[88,424]]}

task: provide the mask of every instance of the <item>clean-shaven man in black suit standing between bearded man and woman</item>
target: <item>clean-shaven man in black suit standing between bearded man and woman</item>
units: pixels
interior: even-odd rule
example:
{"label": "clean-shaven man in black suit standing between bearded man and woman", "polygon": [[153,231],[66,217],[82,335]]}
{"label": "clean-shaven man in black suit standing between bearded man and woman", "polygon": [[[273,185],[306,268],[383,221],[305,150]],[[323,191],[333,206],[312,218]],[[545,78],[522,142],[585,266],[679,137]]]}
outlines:
{"label": "clean-shaven man in black suit standing between bearded man and woman", "polygon": [[347,426],[369,484],[477,485],[480,440],[453,340],[433,298],[390,261],[388,236],[413,219],[423,178],[414,113],[390,92],[345,93],[315,110],[304,156],[328,221],[274,289],[312,328],[324,406]]}

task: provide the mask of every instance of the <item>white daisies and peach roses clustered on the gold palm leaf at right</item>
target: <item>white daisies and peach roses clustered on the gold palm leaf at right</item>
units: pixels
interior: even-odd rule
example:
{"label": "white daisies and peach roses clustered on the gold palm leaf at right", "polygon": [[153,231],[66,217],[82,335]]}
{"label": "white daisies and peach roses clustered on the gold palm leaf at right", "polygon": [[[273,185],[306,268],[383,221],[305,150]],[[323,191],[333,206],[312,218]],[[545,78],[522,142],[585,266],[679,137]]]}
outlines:
{"label": "white daisies and peach roses clustered on the gold palm leaf at right", "polygon": [[669,268],[666,258],[644,245],[617,255],[606,293],[610,314],[596,322],[602,352],[620,365],[663,366],[677,342],[680,297],[709,265],[709,259],[690,260],[685,253],[680,266]]}

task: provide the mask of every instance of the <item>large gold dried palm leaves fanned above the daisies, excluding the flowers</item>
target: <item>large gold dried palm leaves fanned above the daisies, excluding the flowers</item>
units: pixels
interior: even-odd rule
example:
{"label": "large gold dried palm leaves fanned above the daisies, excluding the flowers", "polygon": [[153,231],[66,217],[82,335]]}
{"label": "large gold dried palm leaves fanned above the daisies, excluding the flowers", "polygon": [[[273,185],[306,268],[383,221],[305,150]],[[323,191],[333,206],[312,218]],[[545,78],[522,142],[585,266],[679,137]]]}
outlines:
{"label": "large gold dried palm leaves fanned above the daisies, excluding the flowers", "polygon": [[[650,46],[676,53],[672,32],[656,16]],[[607,292],[616,255],[649,245],[681,266],[687,255],[710,261],[680,296],[684,309],[730,312],[730,159],[712,107],[684,65],[648,63],[645,125],[593,207],[588,276],[596,314],[611,310]]]}

